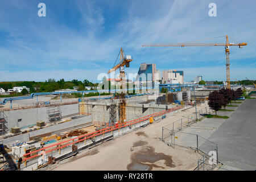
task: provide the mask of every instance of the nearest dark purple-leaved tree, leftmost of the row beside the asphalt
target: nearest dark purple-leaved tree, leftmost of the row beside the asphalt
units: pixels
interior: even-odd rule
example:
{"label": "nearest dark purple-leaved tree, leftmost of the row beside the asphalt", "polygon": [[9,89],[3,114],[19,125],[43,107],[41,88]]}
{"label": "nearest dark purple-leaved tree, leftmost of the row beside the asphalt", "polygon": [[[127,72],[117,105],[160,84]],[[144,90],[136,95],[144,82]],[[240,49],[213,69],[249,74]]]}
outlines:
{"label": "nearest dark purple-leaved tree, leftmost of the row beside the asphalt", "polygon": [[224,96],[217,90],[214,90],[209,94],[208,100],[208,105],[215,110],[215,115],[217,115],[217,111],[225,104]]}

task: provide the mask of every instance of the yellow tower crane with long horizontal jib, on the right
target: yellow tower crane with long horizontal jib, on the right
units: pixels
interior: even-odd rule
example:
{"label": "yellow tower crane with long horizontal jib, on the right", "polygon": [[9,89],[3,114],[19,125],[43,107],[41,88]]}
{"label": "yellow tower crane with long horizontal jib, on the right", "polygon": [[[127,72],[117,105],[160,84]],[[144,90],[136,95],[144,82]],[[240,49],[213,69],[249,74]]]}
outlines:
{"label": "yellow tower crane with long horizontal jib, on the right", "polygon": [[228,35],[225,36],[226,43],[173,43],[173,44],[148,44],[143,45],[142,47],[187,47],[187,46],[224,46],[225,47],[225,54],[226,54],[226,82],[227,82],[227,88],[230,89],[230,64],[229,64],[229,46],[239,46],[239,48],[242,48],[243,46],[246,46],[247,43],[229,43]]}

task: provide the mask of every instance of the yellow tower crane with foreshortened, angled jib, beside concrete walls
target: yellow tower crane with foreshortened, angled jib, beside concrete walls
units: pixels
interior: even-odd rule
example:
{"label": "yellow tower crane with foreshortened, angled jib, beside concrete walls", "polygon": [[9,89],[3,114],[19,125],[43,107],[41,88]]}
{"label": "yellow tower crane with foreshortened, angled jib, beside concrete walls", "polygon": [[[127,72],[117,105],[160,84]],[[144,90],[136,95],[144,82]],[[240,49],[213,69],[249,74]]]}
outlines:
{"label": "yellow tower crane with foreshortened, angled jib, beside concrete walls", "polygon": [[[114,71],[116,71],[119,68],[119,72],[120,72],[119,77],[120,77],[121,86],[122,86],[122,90],[121,90],[120,97],[119,97],[119,105],[120,105],[119,123],[123,123],[123,122],[126,122],[126,99],[125,99],[125,93],[126,93],[126,81],[125,80],[126,79],[125,79],[125,67],[129,68],[130,67],[130,62],[133,59],[131,58],[131,55],[123,56],[123,49],[122,48],[119,51],[119,55],[120,55],[119,63],[117,65],[115,65],[115,63],[114,63],[114,67],[112,69],[110,69],[108,73],[114,72]],[[116,60],[115,60],[115,62],[116,62]]]}

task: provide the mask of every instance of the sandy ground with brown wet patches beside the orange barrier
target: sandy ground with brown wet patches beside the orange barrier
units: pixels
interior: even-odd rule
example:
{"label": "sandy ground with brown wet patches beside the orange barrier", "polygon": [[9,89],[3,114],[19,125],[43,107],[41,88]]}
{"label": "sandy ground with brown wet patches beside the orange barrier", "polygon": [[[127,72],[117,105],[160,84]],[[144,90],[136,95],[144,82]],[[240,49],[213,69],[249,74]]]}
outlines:
{"label": "sandy ground with brown wet patches beside the orange barrier", "polygon": [[[203,104],[197,109],[206,106]],[[159,138],[162,126],[194,112],[195,107],[180,110],[159,122],[65,159],[55,164],[53,170],[193,170],[199,154],[189,148],[175,146],[174,149]]]}

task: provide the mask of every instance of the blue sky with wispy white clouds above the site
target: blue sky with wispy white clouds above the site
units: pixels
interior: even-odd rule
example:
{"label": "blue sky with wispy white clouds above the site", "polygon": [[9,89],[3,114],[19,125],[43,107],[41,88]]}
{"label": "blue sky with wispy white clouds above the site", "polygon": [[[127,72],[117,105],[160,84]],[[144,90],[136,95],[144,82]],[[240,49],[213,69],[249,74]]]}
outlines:
{"label": "blue sky with wispy white clouds above the site", "polygon": [[[46,4],[46,17],[38,4]],[[209,3],[217,16],[208,15]],[[181,43],[229,35],[231,80],[256,79],[256,1],[82,1],[0,0],[0,81],[97,81],[112,68],[123,47],[139,65],[184,71],[185,81],[225,80],[224,47],[145,48],[148,43]],[[225,38],[201,42],[225,42]]]}

